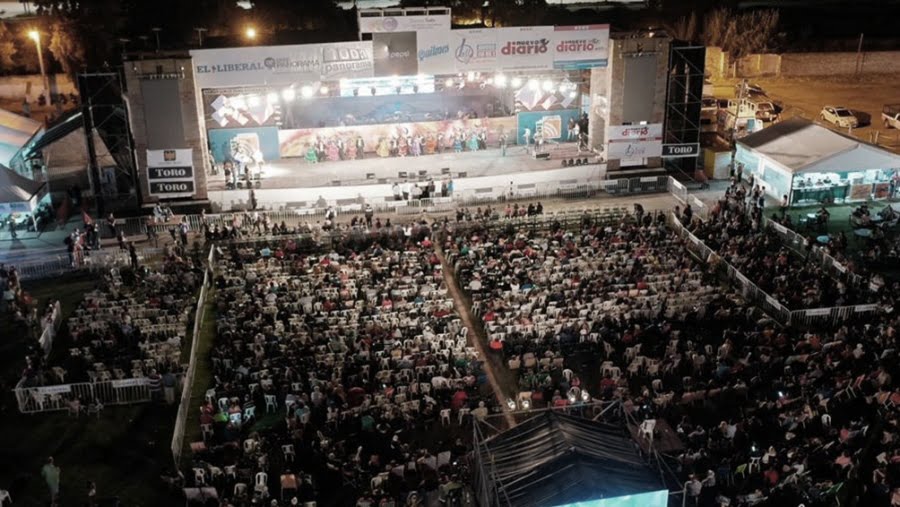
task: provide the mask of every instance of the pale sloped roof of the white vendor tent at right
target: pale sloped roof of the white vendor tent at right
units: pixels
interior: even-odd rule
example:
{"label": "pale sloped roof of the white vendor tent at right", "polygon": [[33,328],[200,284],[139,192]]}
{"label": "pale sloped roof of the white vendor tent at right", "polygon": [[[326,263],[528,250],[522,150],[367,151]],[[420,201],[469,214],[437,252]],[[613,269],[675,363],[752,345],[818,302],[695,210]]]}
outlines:
{"label": "pale sloped roof of the white vendor tent at right", "polygon": [[801,118],[776,123],[737,142],[792,174],[900,169],[900,155]]}

